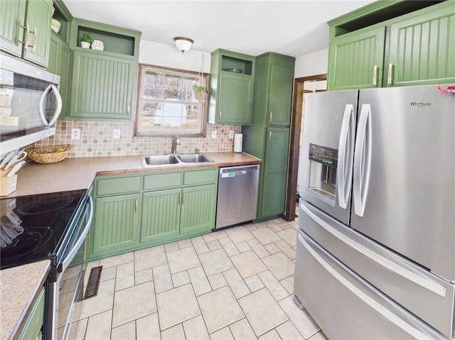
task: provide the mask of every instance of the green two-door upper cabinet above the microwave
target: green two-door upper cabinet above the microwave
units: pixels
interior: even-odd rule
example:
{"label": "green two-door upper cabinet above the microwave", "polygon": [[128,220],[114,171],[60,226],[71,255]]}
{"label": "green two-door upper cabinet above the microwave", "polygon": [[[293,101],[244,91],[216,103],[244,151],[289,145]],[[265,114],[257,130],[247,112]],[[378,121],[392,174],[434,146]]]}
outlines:
{"label": "green two-door upper cabinet above the microwave", "polygon": [[47,67],[52,6],[52,0],[1,1],[1,50]]}

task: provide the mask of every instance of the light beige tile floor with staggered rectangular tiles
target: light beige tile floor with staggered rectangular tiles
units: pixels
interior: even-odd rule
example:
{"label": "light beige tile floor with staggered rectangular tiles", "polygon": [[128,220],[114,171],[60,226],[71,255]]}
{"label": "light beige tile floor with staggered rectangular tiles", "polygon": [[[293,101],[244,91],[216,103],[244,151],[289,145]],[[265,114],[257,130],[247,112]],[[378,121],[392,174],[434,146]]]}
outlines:
{"label": "light beige tile floor with staggered rectangular tiles", "polygon": [[326,339],[293,298],[297,222],[245,224],[102,265],[70,339]]}

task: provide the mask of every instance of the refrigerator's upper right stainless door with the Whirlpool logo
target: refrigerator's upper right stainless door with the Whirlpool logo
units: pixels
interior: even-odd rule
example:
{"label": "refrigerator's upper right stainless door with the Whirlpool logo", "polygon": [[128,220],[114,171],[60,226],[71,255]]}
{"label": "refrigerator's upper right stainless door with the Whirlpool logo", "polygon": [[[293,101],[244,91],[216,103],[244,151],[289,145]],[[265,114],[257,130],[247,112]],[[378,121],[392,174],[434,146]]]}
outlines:
{"label": "refrigerator's upper right stainless door with the Whirlpool logo", "polygon": [[351,226],[455,281],[455,94],[361,90]]}

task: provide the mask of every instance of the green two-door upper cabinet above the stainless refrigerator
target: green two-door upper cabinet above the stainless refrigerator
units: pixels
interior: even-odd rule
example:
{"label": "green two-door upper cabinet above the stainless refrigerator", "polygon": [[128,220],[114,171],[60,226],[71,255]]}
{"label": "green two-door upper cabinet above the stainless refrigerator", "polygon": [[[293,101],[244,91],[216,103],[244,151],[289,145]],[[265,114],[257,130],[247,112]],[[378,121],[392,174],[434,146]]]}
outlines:
{"label": "green two-door upper cabinet above the stainless refrigerator", "polygon": [[430,4],[376,1],[329,22],[328,89],[454,82],[455,3]]}

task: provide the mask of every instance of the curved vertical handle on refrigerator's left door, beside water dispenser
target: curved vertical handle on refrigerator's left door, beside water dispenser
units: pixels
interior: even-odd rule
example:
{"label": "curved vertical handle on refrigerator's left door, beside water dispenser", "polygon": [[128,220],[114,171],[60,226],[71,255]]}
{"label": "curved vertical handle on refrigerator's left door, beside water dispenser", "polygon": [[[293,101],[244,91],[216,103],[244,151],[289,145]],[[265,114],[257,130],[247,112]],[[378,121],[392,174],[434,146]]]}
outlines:
{"label": "curved vertical handle on refrigerator's left door, beside water dispenser", "polygon": [[336,186],[338,205],[346,209],[352,182],[352,158],[354,148],[354,106],[346,104],[341,124],[340,143],[338,144],[338,165],[336,167]]}

